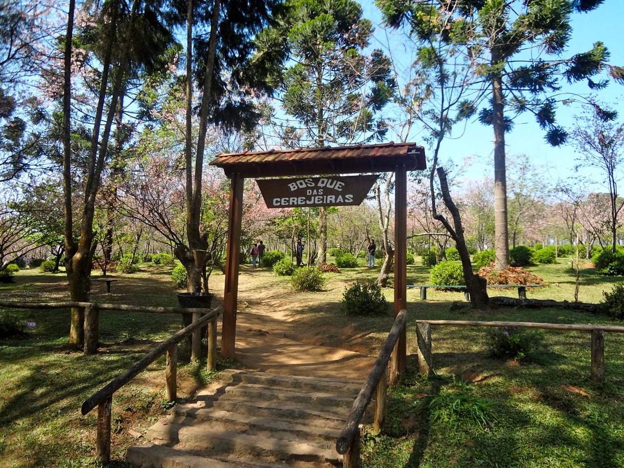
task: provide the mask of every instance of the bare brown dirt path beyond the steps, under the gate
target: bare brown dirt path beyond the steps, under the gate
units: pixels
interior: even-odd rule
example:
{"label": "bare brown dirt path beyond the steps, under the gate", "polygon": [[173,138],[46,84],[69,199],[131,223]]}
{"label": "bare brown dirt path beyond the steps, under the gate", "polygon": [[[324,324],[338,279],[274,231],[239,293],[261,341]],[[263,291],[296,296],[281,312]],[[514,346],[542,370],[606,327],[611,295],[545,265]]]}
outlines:
{"label": "bare brown dirt path beyond the steps, under the gate", "polygon": [[[222,278],[215,278],[212,284],[216,300],[222,298]],[[300,326],[298,315],[293,313],[301,305],[296,295],[264,288],[262,296],[258,298],[250,285],[240,281],[236,359],[245,368],[273,374],[366,379],[376,356],[357,352],[368,353],[368,349],[357,346],[358,336],[353,330],[341,330],[343,340],[339,341],[343,344],[337,348],[336,340],[329,340],[323,329]],[[328,341],[334,346],[323,346]]]}

